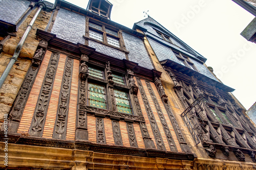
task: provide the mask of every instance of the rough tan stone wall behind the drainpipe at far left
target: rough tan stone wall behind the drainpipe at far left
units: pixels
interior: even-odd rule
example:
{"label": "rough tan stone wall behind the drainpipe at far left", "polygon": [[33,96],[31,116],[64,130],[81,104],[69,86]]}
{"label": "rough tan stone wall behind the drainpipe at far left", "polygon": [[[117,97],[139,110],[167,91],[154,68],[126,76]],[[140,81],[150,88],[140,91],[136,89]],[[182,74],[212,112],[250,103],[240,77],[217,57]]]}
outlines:
{"label": "rough tan stone wall behind the drainpipe at far left", "polygon": [[[3,52],[0,54],[0,75],[3,74],[10,58],[14,54],[15,48],[22,38],[27,25],[32,20],[38,8],[31,11],[28,17],[19,26],[16,36],[11,36],[4,44]],[[33,28],[31,29],[22,51],[19,54],[18,61],[13,65],[6,81],[0,89],[0,124],[3,122],[4,114],[10,111],[10,108],[16,98],[17,92],[23,83],[26,72],[31,64],[31,59],[34,56],[39,40],[36,39],[36,30],[45,30],[48,21],[51,17],[51,12],[41,11],[37,17]]]}

